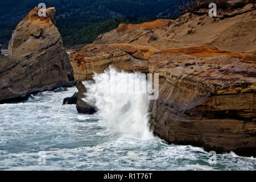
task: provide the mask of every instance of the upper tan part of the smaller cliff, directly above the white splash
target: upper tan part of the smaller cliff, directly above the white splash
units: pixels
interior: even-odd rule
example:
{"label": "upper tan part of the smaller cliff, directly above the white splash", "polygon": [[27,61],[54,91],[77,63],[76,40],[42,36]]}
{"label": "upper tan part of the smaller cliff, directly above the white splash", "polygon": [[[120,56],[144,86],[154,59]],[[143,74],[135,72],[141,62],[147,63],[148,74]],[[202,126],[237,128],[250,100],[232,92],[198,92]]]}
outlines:
{"label": "upper tan part of the smaller cliff, directly above the white splash", "polygon": [[[123,49],[125,47],[120,46]],[[147,72],[146,60],[135,59],[122,49],[110,45],[88,44],[69,55],[76,81],[91,80],[93,73],[103,73],[109,65],[127,72]]]}

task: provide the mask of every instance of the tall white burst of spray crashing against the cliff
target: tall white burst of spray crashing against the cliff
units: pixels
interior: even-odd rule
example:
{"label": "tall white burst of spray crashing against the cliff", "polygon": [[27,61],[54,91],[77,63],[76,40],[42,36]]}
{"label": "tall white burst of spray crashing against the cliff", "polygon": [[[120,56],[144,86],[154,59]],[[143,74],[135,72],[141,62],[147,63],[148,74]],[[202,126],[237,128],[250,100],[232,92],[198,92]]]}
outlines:
{"label": "tall white burst of spray crashing against the cliff", "polygon": [[[110,75],[115,75],[114,82]],[[114,133],[141,139],[154,138],[148,127],[150,100],[145,92],[146,79],[142,79],[143,77],[146,77],[143,73],[117,72],[110,67],[104,73],[95,73],[94,81],[83,82],[87,89],[84,101],[97,107],[102,126]],[[133,83],[127,80],[139,82],[141,89],[129,91]],[[124,88],[129,92],[122,92],[125,91]]]}

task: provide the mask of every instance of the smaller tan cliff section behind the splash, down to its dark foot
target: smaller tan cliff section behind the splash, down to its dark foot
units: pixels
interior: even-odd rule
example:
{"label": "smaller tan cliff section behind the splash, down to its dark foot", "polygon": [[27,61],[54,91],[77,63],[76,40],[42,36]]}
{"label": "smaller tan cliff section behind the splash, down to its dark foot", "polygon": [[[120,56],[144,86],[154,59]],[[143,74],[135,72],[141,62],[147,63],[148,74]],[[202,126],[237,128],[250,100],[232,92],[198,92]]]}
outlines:
{"label": "smaller tan cliff section behind the splash, down to its dark foot", "polygon": [[[124,50],[124,51],[123,51]],[[133,56],[129,55],[131,53]],[[93,114],[96,111],[92,105],[82,101],[86,88],[82,81],[92,80],[94,72],[103,73],[109,65],[126,72],[148,71],[144,58],[152,55],[157,50],[150,47],[133,47],[129,44],[93,45],[89,44],[75,53],[69,55],[74,69],[76,87],[79,90],[77,111],[79,113]],[[136,57],[136,58],[135,58]]]}

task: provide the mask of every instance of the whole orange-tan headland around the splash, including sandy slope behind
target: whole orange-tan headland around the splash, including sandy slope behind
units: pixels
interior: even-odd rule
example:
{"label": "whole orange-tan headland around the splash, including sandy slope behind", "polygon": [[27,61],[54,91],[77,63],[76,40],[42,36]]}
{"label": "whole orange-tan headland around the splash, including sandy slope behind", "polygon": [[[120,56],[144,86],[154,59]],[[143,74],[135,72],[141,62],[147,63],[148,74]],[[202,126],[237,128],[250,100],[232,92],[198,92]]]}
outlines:
{"label": "whole orange-tan headland around the splash, including sandy slope behind", "polygon": [[201,10],[159,27],[121,24],[69,56],[79,89],[77,110],[96,111],[81,100],[81,82],[109,65],[159,73],[159,98],[150,105],[154,134],[168,143],[255,157],[254,22],[255,5],[248,4],[218,18]]}

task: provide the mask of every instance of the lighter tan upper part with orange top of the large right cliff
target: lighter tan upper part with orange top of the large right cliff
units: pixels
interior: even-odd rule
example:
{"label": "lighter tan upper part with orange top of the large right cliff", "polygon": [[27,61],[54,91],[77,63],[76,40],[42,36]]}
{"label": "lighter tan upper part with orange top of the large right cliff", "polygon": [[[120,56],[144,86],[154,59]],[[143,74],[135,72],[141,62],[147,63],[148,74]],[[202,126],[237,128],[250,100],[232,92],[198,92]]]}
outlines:
{"label": "lighter tan upper part with orange top of the large right cliff", "polygon": [[148,69],[191,92],[233,94],[255,91],[255,60],[255,56],[214,47],[192,47],[158,52],[148,59]]}

